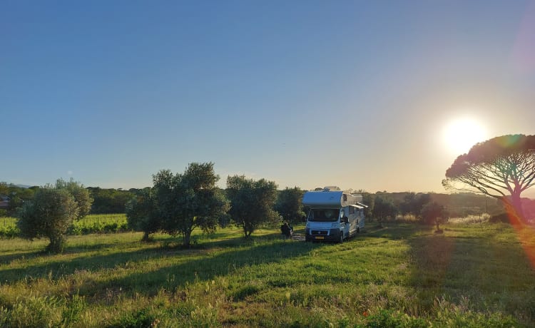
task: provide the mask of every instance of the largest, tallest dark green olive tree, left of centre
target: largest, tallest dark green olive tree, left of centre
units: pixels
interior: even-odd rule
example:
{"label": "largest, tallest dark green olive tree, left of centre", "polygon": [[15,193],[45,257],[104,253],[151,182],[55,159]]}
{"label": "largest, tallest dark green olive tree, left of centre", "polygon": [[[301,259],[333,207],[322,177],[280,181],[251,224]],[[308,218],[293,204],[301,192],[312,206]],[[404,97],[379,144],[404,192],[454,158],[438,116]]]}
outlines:
{"label": "largest, tallest dark green olive tree, left of centre", "polygon": [[214,231],[219,217],[228,210],[223,190],[215,185],[218,180],[213,163],[190,163],[181,174],[161,170],[153,175],[163,230],[182,235],[185,247],[190,246],[196,227]]}

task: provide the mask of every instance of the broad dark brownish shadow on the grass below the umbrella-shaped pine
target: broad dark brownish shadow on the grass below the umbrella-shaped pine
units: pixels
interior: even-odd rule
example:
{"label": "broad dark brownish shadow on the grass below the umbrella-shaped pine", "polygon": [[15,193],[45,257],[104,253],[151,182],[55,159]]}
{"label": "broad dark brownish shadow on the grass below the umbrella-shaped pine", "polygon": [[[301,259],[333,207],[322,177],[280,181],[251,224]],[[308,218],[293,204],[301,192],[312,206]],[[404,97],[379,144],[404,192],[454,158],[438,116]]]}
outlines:
{"label": "broad dark brownish shadow on the grass below the umbrella-shaped pine", "polygon": [[499,311],[533,323],[535,274],[521,246],[514,237],[499,240],[492,232],[474,233],[477,229],[444,235],[429,229],[409,238],[417,311],[437,311],[445,300],[459,309]]}

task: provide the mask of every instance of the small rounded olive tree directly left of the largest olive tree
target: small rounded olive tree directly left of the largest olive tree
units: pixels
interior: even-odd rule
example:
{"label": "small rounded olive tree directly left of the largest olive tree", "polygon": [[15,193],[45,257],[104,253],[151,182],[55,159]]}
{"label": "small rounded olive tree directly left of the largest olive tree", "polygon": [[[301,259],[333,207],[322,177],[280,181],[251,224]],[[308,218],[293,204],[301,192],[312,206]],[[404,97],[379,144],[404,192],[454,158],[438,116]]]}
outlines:
{"label": "small rounded olive tree directly left of the largest olive tree", "polygon": [[136,198],[130,200],[126,206],[126,218],[128,227],[144,232],[143,241],[148,241],[151,233],[162,230],[163,222],[153,190],[143,190]]}

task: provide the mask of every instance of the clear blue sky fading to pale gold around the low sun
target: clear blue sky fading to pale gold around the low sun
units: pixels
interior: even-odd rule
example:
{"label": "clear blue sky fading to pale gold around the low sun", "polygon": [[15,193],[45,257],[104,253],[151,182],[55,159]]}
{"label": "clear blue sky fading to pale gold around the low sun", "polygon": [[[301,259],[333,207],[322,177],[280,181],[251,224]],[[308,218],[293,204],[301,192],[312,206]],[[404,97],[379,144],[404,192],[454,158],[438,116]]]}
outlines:
{"label": "clear blue sky fading to pale gold around the low sun", "polygon": [[444,193],[535,134],[535,1],[0,1],[0,181]]}

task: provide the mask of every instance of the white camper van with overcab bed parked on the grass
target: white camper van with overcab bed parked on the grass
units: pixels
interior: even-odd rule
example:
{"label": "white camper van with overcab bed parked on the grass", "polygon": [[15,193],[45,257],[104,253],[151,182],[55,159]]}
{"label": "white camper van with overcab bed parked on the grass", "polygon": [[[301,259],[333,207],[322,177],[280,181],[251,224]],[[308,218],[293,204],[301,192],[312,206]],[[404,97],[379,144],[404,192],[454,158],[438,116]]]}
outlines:
{"label": "white camper van with overcab bed parked on the grass", "polygon": [[320,191],[307,191],[302,203],[310,207],[306,241],[343,242],[364,228],[364,209],[367,206],[362,204],[362,195],[325,187]]}

